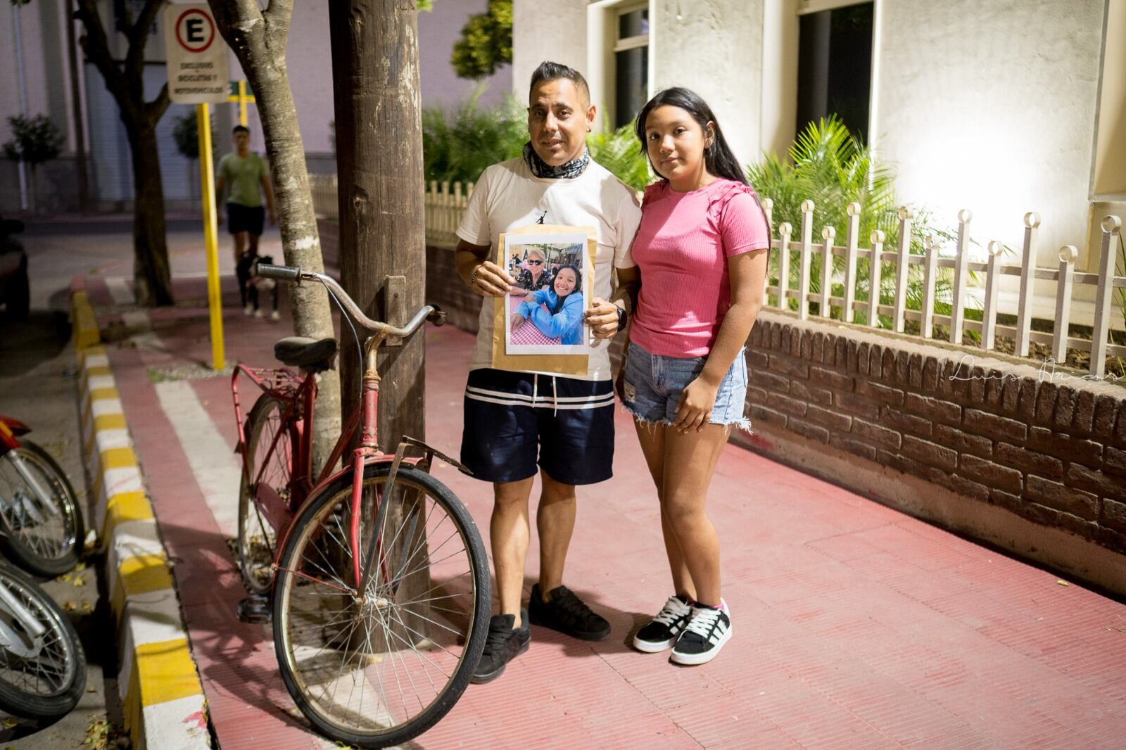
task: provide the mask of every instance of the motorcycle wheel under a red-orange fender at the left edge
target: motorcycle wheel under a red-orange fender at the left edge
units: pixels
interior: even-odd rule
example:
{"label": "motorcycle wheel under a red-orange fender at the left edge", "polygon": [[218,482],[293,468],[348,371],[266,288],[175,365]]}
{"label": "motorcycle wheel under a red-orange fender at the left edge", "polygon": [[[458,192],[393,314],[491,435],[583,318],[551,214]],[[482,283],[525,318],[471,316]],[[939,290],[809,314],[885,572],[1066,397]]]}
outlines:
{"label": "motorcycle wheel under a red-orange fender at the left edge", "polygon": [[74,488],[30,440],[0,456],[0,529],[5,554],[37,575],[65,573],[82,557],[86,527]]}

